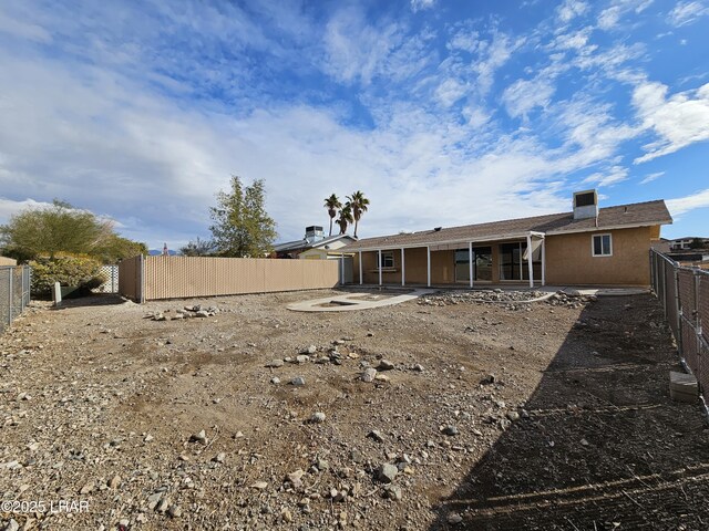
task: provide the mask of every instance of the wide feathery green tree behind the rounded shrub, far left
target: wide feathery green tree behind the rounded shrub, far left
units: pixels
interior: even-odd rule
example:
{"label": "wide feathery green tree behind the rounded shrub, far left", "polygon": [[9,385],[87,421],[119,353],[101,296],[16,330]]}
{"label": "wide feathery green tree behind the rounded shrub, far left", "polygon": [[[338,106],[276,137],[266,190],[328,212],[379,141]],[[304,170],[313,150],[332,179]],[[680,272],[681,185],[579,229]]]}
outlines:
{"label": "wide feathery green tree behind the rounded shrub, far left", "polygon": [[20,260],[53,259],[63,252],[114,262],[145,249],[143,243],[119,237],[111,221],[58,199],[50,207],[12,216],[8,225],[0,226],[0,244],[8,256]]}

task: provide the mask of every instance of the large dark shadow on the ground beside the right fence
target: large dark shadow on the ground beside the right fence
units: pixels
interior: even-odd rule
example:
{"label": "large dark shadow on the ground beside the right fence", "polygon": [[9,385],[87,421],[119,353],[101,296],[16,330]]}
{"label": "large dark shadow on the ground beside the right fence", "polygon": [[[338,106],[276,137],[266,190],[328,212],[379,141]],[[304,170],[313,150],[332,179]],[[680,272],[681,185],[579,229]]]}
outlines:
{"label": "large dark shadow on the ground beside the right fence", "polygon": [[650,295],[588,305],[528,417],[442,500],[431,529],[709,529],[709,431],[698,404],[669,398],[677,361]]}

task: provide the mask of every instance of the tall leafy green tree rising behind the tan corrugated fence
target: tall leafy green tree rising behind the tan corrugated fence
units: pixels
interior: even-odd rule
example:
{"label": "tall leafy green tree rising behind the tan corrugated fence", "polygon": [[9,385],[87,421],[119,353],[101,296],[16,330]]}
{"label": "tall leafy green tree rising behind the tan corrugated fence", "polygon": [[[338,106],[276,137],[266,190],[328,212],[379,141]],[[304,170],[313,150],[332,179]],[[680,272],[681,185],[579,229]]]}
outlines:
{"label": "tall leafy green tree rising behind the tan corrugated fence", "polygon": [[244,187],[238,176],[232,176],[232,191],[219,191],[217,206],[210,208],[209,230],[219,254],[261,258],[273,250],[276,221],[266,212],[265,200],[263,179]]}

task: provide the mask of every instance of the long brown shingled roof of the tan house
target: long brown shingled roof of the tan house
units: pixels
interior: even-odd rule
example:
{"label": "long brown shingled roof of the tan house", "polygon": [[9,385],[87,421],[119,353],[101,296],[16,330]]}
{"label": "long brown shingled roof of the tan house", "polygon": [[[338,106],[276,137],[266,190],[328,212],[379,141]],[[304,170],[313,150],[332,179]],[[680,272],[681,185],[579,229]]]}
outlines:
{"label": "long brown shingled roof of the tan house", "polygon": [[665,201],[657,200],[602,208],[598,210],[597,218],[574,219],[573,212],[549,214],[532,218],[366,238],[348,244],[340,251],[398,249],[401,247],[423,247],[445,242],[492,241],[522,238],[531,232],[551,236],[567,232],[649,227],[671,222],[672,218],[667,210]]}

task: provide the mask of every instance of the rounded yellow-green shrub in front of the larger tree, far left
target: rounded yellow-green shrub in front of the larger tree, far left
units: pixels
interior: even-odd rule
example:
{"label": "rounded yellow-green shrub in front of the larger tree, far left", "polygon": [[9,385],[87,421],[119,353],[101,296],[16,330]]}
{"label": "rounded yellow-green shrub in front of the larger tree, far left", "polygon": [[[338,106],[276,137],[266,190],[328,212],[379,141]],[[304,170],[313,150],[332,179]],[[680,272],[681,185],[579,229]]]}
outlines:
{"label": "rounded yellow-green shrub in front of the larger tree, far left", "polygon": [[89,294],[106,281],[101,262],[85,256],[59,254],[38,258],[29,262],[32,268],[32,294],[49,296],[54,282],[60,285],[78,285],[80,294]]}

